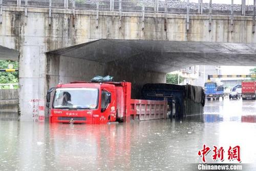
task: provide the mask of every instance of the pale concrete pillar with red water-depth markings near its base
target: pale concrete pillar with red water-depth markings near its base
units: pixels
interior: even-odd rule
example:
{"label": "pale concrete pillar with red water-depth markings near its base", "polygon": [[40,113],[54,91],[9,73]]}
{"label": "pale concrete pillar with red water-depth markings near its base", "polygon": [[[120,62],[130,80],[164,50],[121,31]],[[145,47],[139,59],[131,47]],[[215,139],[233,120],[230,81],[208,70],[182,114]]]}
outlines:
{"label": "pale concrete pillar with red water-depth markings near its base", "polygon": [[47,49],[44,26],[47,23],[44,18],[33,17],[29,15],[27,25],[22,26],[22,41],[19,42],[19,110],[23,121],[39,121],[45,117]]}

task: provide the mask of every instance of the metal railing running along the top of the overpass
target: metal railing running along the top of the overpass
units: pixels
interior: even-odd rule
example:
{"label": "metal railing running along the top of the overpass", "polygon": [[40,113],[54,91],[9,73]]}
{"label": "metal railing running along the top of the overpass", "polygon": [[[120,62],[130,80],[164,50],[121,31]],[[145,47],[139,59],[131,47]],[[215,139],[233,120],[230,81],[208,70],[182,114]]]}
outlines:
{"label": "metal railing running along the top of the overpass", "polygon": [[198,3],[189,0],[1,0],[2,6],[22,6],[50,9],[75,9],[93,11],[121,11],[147,13],[174,13],[174,14],[214,14],[214,15],[254,15],[254,5],[246,5],[245,0],[240,4],[217,4],[216,0],[198,0]]}

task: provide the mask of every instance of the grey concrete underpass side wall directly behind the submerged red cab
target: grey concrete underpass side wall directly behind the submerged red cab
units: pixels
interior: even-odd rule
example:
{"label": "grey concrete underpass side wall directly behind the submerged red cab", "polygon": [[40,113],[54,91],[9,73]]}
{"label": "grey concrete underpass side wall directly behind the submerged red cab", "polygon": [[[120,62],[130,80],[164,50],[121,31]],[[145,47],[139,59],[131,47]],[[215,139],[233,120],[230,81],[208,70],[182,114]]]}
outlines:
{"label": "grey concrete underpass side wall directly behind the submerged red cab", "polygon": [[105,75],[104,63],[66,56],[47,58],[47,88],[55,87],[58,83],[90,81],[96,75]]}

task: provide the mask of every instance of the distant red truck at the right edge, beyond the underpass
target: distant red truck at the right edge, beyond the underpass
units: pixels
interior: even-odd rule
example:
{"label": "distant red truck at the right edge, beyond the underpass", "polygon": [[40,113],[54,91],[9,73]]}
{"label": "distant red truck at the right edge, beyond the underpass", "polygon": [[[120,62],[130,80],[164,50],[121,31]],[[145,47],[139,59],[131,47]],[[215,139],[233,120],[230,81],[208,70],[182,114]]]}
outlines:
{"label": "distant red truck at the right edge, beyond the underpass", "polygon": [[255,100],[256,94],[256,82],[242,82],[242,99],[252,99]]}

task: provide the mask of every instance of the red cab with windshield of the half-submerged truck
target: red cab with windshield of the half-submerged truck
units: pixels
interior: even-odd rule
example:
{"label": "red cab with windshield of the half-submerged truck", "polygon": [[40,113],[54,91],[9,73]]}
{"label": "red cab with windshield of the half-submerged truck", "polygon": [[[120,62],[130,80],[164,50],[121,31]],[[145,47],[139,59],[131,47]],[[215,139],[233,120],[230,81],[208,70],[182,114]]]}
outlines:
{"label": "red cab with windshield of the half-submerged truck", "polygon": [[106,124],[123,120],[127,88],[130,90],[127,98],[131,99],[131,83],[128,82],[59,84],[54,88],[51,103],[49,94],[52,89],[47,94],[47,107],[51,108],[50,122]]}

